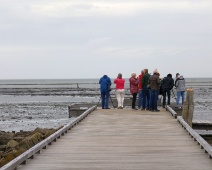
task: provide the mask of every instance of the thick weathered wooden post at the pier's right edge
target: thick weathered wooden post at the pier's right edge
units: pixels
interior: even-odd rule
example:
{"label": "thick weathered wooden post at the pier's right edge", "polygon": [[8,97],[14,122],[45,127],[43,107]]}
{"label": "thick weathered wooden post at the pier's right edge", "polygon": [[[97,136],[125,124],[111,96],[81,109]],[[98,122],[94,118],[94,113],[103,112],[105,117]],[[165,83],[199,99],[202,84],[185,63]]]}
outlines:
{"label": "thick weathered wooden post at the pier's right edge", "polygon": [[190,127],[192,127],[193,113],[194,113],[194,91],[193,89],[187,89],[186,100],[184,101],[182,116]]}

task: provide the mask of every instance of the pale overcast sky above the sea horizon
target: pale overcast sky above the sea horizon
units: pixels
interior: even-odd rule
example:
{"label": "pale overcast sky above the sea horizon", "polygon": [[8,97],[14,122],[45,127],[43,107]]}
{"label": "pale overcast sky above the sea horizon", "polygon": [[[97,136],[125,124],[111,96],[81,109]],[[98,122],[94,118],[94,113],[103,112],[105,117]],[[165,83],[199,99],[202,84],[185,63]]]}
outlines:
{"label": "pale overcast sky above the sea horizon", "polygon": [[211,0],[0,0],[0,79],[212,77]]}

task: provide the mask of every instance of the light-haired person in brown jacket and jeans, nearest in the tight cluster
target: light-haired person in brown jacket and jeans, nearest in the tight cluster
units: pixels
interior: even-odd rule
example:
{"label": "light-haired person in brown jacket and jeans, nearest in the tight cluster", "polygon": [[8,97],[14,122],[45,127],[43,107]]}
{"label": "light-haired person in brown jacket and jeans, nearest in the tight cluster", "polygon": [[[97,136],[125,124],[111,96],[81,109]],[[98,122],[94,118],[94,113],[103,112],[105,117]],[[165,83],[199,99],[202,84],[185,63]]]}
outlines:
{"label": "light-haired person in brown jacket and jeans, nearest in the tight cluster", "polygon": [[156,70],[153,72],[154,74],[149,78],[150,81],[150,109],[153,112],[159,112],[158,110],[158,95],[160,90],[160,78],[159,73]]}

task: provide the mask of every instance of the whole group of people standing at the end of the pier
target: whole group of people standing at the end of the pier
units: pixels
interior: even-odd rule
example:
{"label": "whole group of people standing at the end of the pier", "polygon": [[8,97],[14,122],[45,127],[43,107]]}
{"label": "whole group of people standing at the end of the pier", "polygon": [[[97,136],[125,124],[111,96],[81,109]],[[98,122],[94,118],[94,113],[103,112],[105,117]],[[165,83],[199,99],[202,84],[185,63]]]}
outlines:
{"label": "whole group of people standing at the end of the pier", "polygon": [[[119,73],[114,80],[116,84],[116,98],[118,101],[117,109],[124,108],[124,84],[125,79],[122,78],[122,74]],[[141,74],[137,77],[136,73],[132,73],[129,79],[130,93],[132,94],[132,109],[133,110],[149,110],[159,112],[158,109],[158,96],[163,96],[162,106],[170,105],[171,91],[173,87],[176,87],[177,98],[176,105],[180,103],[180,97],[182,98],[182,104],[185,98],[185,79],[179,73],[176,74],[175,81],[172,78],[172,74],[168,74],[164,78],[160,78],[160,74],[157,69],[153,71],[153,74],[148,73],[148,69],[141,71]],[[102,109],[110,109],[108,106],[110,96],[110,86],[112,84],[111,79],[104,75],[99,80]],[[172,91],[173,92],[173,91]],[[136,100],[138,96],[138,102],[136,107]],[[166,100],[167,99],[167,100]]]}

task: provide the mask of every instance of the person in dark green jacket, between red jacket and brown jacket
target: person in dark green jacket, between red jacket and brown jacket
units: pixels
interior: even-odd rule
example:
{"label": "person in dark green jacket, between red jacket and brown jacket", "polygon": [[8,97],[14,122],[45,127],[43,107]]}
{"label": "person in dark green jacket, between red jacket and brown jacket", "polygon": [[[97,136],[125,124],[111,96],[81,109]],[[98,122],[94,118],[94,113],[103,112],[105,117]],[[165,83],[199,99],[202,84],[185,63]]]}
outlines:
{"label": "person in dark green jacket, between red jacket and brown jacket", "polygon": [[150,74],[148,73],[148,69],[144,69],[144,75],[142,77],[143,102],[142,102],[142,109],[141,110],[145,110],[145,109],[149,110],[149,99],[150,99],[149,78],[150,78]]}

